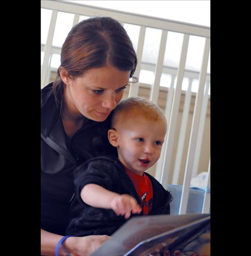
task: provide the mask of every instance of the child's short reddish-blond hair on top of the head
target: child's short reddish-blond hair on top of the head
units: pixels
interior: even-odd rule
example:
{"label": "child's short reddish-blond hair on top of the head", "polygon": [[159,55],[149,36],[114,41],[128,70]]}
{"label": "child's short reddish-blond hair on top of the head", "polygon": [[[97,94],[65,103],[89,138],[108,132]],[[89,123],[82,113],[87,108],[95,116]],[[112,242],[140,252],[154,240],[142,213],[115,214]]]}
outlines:
{"label": "child's short reddish-blond hair on top of the head", "polygon": [[122,113],[126,113],[127,115],[133,114],[134,117],[135,115],[144,117],[147,121],[157,121],[159,119],[166,121],[161,108],[143,97],[128,97],[127,99],[121,100],[113,110],[112,127],[114,127],[114,124]]}

